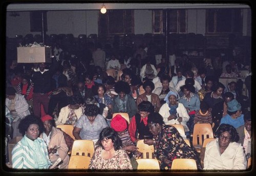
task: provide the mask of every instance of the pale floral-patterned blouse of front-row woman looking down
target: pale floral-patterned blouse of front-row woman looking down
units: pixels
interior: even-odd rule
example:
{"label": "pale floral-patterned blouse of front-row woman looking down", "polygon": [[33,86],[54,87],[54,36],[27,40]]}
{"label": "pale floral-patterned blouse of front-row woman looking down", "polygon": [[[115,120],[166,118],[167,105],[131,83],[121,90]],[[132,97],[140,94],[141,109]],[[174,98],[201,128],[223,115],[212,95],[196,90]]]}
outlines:
{"label": "pale floral-patterned blouse of front-row woman looking down", "polygon": [[132,170],[132,164],[126,151],[119,149],[115,151],[115,156],[111,159],[104,159],[102,157],[102,147],[96,148],[93,157],[89,164],[89,169],[100,171],[113,171],[113,170]]}

